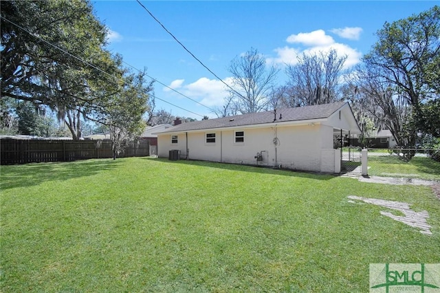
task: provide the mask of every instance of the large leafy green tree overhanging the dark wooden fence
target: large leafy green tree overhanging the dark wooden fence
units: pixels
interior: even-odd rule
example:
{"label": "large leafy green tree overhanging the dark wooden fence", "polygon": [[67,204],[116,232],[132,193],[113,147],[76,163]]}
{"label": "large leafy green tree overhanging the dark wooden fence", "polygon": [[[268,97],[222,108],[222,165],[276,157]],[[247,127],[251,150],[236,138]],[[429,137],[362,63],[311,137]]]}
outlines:
{"label": "large leafy green tree overhanging the dark wooden fence", "polygon": [[58,113],[75,139],[120,90],[107,28],[85,0],[1,1],[1,96]]}

